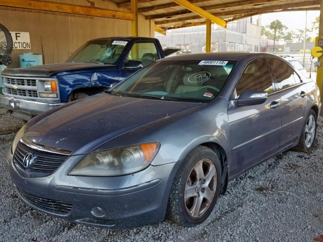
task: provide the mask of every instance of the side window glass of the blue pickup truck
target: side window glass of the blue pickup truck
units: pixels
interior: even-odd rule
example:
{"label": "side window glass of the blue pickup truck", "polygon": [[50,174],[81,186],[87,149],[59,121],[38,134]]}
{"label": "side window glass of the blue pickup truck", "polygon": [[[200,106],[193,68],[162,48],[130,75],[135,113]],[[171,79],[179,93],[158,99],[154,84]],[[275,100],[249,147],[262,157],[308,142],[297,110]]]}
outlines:
{"label": "side window glass of the blue pickup truck", "polygon": [[157,59],[159,59],[157,49],[152,42],[134,43],[127,56],[128,61],[140,61],[143,67],[148,66]]}

